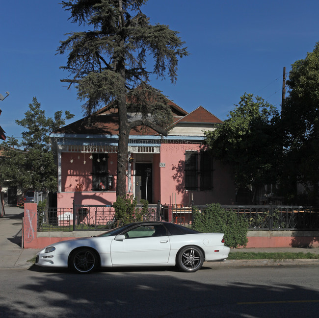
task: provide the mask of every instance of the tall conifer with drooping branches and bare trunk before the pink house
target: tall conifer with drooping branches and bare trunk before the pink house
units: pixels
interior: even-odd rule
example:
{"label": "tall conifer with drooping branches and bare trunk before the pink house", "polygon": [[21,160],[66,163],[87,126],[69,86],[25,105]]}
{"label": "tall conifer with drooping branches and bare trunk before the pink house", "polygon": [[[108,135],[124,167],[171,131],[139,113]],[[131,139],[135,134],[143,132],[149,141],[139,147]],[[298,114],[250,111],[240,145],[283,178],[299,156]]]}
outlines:
{"label": "tall conifer with drooping branches and bare trunk before the pink house", "polygon": [[[150,74],[171,82],[177,78],[178,59],[188,53],[184,42],[167,25],[150,24],[142,13],[146,0],[70,0],[62,1],[71,21],[92,29],[69,34],[58,52],[68,52],[64,70],[77,85],[78,97],[86,100],[83,109],[91,115],[98,107],[117,108],[119,142],[117,197],[126,196],[128,142],[132,128],[148,126],[166,135],[172,115],[160,92],[149,85]],[[146,68],[148,56],[154,59],[152,71]],[[134,89],[138,84],[137,89]],[[133,103],[139,120],[129,122],[128,104]]]}

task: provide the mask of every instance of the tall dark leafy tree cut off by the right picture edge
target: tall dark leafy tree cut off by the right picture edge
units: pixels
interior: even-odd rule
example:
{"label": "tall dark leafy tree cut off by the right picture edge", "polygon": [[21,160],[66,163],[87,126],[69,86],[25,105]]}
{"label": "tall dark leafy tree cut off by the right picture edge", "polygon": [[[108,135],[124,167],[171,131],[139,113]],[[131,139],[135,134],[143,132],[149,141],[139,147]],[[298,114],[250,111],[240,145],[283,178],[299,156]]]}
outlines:
{"label": "tall dark leafy tree cut off by the right picture edge", "polygon": [[[285,153],[289,170],[286,180],[308,187],[308,193],[318,198],[319,183],[319,42],[305,59],[292,64],[287,80],[282,122],[285,126]],[[292,189],[292,197],[295,190]]]}

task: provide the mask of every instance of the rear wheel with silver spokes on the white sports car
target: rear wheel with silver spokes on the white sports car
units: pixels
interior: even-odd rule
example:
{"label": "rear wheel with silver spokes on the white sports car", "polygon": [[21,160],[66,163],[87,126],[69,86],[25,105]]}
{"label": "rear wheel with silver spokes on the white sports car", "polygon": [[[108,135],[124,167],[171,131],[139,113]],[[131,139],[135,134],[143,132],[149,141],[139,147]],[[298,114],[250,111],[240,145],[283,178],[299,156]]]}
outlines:
{"label": "rear wheel with silver spokes on the white sports car", "polygon": [[176,263],[183,271],[195,272],[203,266],[204,254],[197,246],[185,246],[177,253]]}

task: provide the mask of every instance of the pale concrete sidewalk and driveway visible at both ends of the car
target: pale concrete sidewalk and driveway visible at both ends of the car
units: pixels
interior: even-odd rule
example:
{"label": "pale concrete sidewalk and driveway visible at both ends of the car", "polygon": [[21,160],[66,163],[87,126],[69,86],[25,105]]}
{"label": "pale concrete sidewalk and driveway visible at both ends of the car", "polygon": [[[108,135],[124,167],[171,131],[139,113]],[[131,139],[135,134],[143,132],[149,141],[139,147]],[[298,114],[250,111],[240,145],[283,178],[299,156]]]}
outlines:
{"label": "pale concrete sidewalk and driveway visible at both ends of the car", "polygon": [[[0,218],[0,269],[20,268],[28,269],[38,249],[23,249],[22,244],[22,218],[24,209],[5,206],[5,216]],[[302,252],[319,254],[316,248],[232,248],[231,253],[241,252]],[[206,262],[205,262],[206,263]],[[308,260],[226,260],[225,262],[207,262],[204,266],[275,266],[275,265],[305,265],[317,264],[319,259]]]}

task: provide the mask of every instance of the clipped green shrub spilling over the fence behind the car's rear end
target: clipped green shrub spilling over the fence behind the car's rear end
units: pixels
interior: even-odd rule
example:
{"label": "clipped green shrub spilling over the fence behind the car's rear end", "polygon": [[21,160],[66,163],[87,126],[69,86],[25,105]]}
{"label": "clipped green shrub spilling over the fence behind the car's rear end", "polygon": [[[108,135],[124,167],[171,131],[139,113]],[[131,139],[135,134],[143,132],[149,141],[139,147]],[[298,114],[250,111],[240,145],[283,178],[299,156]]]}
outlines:
{"label": "clipped green shrub spilling over the fence behind the car's rear end", "polygon": [[208,204],[201,212],[195,211],[192,228],[204,233],[224,233],[225,245],[230,247],[246,246],[248,242],[248,221],[218,203]]}

